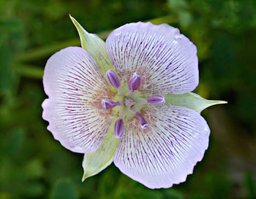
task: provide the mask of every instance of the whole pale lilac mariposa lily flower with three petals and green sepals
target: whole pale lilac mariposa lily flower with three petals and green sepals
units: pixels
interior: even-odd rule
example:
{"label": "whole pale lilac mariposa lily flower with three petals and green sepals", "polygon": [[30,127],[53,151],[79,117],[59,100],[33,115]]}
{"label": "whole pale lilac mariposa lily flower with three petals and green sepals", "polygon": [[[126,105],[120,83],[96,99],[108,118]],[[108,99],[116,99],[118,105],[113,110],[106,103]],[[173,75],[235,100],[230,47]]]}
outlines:
{"label": "whole pale lilac mariposa lily flower with three petals and green sepals", "polygon": [[200,112],[225,103],[189,93],[199,80],[195,45],[177,28],[141,22],[104,42],[71,19],[82,47],[60,50],[46,63],[48,130],[85,154],[83,180],[113,162],[152,189],[184,182],[208,148]]}

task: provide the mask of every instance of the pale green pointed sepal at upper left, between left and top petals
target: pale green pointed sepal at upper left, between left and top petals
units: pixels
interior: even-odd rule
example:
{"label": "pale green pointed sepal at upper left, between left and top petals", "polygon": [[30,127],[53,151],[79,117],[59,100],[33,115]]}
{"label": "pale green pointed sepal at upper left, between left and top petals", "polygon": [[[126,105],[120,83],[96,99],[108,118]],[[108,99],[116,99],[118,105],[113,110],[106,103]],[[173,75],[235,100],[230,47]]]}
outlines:
{"label": "pale green pointed sepal at upper left, between left and top petals", "polygon": [[69,15],[69,17],[72,20],[72,23],[74,23],[75,28],[78,30],[81,46],[91,54],[94,60],[98,63],[102,74],[105,75],[108,70],[113,69],[110,59],[108,58],[105,42],[100,39],[97,34],[89,34],[71,15]]}

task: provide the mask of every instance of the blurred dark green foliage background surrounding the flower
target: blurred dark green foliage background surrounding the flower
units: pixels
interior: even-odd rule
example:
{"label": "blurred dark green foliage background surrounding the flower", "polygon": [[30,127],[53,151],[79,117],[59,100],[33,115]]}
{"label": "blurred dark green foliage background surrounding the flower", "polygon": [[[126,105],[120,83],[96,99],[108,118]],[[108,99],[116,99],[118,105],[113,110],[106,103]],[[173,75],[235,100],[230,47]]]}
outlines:
{"label": "blurred dark green foliage background surrounding the flower", "polygon": [[[0,199],[256,198],[256,1],[1,0]],[[114,165],[81,182],[83,155],[55,141],[42,120],[48,57],[79,45],[73,15],[105,38],[124,23],[170,23],[197,45],[196,93],[226,106],[203,112],[211,141],[187,182],[148,190]]]}

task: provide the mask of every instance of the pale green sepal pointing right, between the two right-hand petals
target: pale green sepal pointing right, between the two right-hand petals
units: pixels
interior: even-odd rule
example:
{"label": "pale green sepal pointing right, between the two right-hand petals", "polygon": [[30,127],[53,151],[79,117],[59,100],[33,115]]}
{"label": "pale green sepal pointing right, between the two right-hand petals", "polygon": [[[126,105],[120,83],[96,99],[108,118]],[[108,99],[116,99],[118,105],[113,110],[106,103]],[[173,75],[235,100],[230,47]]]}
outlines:
{"label": "pale green sepal pointing right, between the two right-hand petals", "polygon": [[165,95],[165,105],[184,106],[200,113],[209,106],[227,104],[227,101],[207,100],[195,93],[182,95]]}

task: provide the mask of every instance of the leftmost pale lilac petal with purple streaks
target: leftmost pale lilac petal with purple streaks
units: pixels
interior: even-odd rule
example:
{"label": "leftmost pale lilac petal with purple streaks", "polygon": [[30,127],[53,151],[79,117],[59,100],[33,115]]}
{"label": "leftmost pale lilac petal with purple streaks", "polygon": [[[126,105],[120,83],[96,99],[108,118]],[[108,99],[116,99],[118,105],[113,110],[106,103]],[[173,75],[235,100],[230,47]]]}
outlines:
{"label": "leftmost pale lilac petal with purple streaks", "polygon": [[111,124],[111,111],[101,101],[113,98],[94,58],[81,47],[67,47],[52,55],[45,66],[42,117],[54,138],[72,152],[99,148]]}

